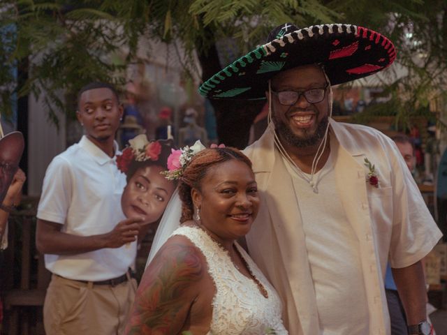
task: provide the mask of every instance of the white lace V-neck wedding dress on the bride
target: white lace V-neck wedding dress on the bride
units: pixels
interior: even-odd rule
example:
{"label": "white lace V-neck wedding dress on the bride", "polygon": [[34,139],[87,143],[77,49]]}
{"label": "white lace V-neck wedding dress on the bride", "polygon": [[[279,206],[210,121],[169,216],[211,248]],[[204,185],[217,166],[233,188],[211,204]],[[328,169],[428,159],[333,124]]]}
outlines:
{"label": "white lace V-neck wedding dress on the bride", "polygon": [[288,334],[281,321],[281,301],[277,292],[241,246],[235,243],[249,271],[263,285],[268,297],[263,296],[253,279],[236,269],[228,252],[202,229],[184,226],[177,228],[173,235],[183,235],[202,251],[216,286],[208,334]]}

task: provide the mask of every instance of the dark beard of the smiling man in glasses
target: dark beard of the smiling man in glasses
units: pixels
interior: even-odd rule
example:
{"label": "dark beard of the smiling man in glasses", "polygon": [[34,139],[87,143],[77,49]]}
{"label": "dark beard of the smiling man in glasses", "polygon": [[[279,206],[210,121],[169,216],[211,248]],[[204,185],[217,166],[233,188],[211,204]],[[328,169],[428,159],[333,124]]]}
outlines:
{"label": "dark beard of the smiling man in glasses", "polygon": [[[318,117],[318,115],[316,115],[316,117]],[[329,123],[329,118],[326,115],[316,126],[315,133],[306,133],[305,137],[298,137],[298,135],[295,135],[290,126],[285,124],[284,121],[275,116],[272,119],[274,128],[276,129],[281,139],[286,141],[287,144],[298,148],[313,147],[314,145],[318,144],[323,139]]]}

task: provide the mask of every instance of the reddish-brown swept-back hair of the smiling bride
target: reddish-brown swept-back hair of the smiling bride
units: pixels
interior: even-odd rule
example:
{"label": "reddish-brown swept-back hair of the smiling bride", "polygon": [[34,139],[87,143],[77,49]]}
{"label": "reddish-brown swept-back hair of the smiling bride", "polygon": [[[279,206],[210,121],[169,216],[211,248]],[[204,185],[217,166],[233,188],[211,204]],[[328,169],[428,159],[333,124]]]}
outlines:
{"label": "reddish-brown swept-back hair of the smiling bride", "polygon": [[231,147],[203,149],[196,156],[193,156],[191,162],[186,166],[182,177],[179,178],[179,197],[182,200],[182,216],[180,223],[192,220],[194,213],[194,204],[191,198],[191,189],[201,191],[202,180],[207,175],[208,170],[223,162],[235,159],[249,166],[251,161],[241,151]]}

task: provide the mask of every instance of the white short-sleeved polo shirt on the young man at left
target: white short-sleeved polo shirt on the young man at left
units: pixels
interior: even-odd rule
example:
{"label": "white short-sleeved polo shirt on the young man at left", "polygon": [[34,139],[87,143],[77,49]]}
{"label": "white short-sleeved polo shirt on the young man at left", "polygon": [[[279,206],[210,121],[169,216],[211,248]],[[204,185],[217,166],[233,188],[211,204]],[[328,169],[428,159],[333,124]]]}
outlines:
{"label": "white short-sleeved polo shirt on the young man at left", "polygon": [[[43,180],[37,217],[60,223],[61,231],[79,236],[110,232],[125,216],[121,196],[125,174],[83,136],[54,157]],[[124,274],[133,263],[136,242],[130,247],[103,248],[76,255],[45,254],[45,267],[53,274],[80,281],[103,281]]]}

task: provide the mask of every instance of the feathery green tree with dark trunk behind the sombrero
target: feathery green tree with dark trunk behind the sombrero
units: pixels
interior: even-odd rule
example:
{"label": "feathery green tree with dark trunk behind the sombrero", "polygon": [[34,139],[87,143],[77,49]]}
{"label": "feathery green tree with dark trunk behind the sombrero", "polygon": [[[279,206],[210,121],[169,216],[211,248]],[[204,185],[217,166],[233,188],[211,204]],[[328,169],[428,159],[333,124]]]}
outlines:
{"label": "feathery green tree with dark trunk behind the sombrero", "polygon": [[[386,90],[389,103],[365,110],[397,116],[432,117],[429,104],[446,87],[445,0],[3,0],[0,5],[0,112],[13,94],[45,97],[48,117],[73,114],[73,97],[91,80],[124,83],[145,38],[181,43],[185,75],[203,79],[221,69],[217,43],[232,38],[242,55],[263,43],[272,27],[346,22],[376,29],[394,41],[397,61],[408,68]],[[124,62],[116,54],[125,52]],[[201,68],[196,68],[196,54]],[[19,80],[13,68],[18,67]],[[45,93],[45,94],[43,94]],[[261,102],[212,101],[222,142],[244,147]],[[433,109],[433,108],[432,108]]]}

